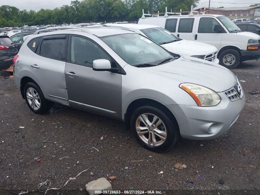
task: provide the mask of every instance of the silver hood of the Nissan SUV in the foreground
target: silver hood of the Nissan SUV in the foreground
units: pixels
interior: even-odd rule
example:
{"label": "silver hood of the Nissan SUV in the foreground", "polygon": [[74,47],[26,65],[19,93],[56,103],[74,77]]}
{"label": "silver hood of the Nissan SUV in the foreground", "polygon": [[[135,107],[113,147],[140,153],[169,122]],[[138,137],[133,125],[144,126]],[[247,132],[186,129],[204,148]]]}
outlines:
{"label": "silver hood of the Nissan SUV in the foreground", "polygon": [[142,69],[178,80],[179,83],[202,85],[216,92],[226,91],[237,83],[236,76],[227,68],[193,57],[182,56],[169,63]]}

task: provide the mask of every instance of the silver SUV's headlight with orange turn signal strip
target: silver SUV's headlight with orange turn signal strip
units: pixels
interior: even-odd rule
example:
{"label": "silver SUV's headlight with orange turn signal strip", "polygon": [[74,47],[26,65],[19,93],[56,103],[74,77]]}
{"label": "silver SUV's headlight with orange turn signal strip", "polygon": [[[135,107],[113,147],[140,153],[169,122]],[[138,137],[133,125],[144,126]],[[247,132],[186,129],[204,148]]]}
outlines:
{"label": "silver SUV's headlight with orange turn signal strip", "polygon": [[213,90],[193,83],[181,83],[179,85],[195,100],[198,106],[215,106],[220,103],[220,96]]}

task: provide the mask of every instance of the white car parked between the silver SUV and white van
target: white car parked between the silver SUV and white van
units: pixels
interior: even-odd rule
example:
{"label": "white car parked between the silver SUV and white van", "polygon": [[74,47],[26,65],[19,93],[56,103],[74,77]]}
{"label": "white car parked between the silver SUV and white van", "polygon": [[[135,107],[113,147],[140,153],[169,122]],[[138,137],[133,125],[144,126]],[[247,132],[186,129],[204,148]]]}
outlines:
{"label": "white car parked between the silver SUV and white van", "polygon": [[182,40],[162,27],[146,24],[111,24],[109,26],[117,26],[132,30],[148,37],[170,52],[205,59],[217,64],[219,63],[219,60],[217,59],[218,50],[216,47],[206,43]]}

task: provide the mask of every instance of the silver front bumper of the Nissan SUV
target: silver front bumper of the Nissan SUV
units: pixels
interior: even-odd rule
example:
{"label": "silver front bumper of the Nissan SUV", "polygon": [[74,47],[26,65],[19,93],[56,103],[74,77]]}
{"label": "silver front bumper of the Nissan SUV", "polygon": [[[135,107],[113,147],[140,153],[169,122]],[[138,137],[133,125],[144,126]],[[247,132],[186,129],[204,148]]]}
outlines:
{"label": "silver front bumper of the Nissan SUV", "polygon": [[176,117],[183,138],[190,140],[215,139],[236,122],[245,105],[245,95],[242,99],[231,102],[223,92],[218,94],[222,100],[216,106],[166,105]]}

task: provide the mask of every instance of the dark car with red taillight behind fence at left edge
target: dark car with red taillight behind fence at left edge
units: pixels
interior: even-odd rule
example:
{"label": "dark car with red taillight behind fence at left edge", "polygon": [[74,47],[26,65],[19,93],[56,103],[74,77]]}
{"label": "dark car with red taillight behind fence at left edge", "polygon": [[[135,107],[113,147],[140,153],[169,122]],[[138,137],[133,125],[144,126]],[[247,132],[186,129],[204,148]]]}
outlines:
{"label": "dark car with red taillight behind fence at left edge", "polygon": [[10,67],[17,53],[17,46],[11,41],[9,36],[0,35],[0,71]]}

